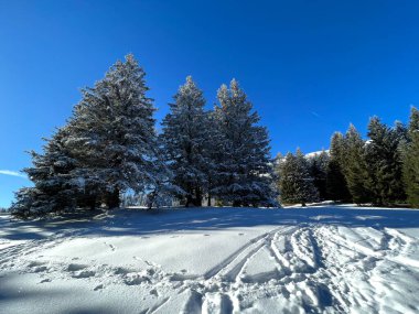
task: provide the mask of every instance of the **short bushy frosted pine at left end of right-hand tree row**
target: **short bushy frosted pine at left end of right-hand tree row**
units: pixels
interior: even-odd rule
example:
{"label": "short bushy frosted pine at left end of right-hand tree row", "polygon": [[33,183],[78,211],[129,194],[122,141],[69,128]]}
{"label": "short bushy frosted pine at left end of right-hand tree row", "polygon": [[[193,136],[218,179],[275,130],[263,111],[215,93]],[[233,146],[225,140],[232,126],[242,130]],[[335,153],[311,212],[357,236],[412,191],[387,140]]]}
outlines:
{"label": "short bushy frosted pine at left end of right-hand tree row", "polygon": [[296,155],[288,153],[278,164],[278,188],[281,202],[284,204],[319,201],[319,193],[310,175],[310,165],[304,154],[297,150]]}

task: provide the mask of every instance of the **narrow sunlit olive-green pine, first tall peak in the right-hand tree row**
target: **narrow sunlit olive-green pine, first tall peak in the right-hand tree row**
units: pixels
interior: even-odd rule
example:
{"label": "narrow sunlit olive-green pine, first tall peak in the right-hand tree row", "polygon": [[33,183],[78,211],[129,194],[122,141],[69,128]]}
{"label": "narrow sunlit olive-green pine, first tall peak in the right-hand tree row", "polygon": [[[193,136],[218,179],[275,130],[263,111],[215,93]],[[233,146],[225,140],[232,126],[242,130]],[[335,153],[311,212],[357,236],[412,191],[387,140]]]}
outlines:
{"label": "narrow sunlit olive-green pine, first tall peak in the right-hand tree row", "polygon": [[353,124],[345,134],[344,144],[344,174],[352,199],[358,205],[370,202],[365,142]]}

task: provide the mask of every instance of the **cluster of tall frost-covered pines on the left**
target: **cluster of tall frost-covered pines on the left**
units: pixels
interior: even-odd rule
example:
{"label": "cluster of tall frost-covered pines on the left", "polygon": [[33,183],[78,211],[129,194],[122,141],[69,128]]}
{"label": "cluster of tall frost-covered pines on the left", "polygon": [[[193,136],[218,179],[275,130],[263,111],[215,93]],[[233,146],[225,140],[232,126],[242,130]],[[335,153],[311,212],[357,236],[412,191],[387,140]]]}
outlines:
{"label": "cluster of tall frost-covered pines on the left", "polygon": [[205,110],[203,91],[187,77],[155,130],[153,99],[133,55],[118,61],[82,90],[66,124],[24,169],[33,186],[15,193],[20,218],[118,207],[127,191],[149,207],[168,197],[201,206],[204,197],[233,206],[276,206],[268,131],[233,79]]}

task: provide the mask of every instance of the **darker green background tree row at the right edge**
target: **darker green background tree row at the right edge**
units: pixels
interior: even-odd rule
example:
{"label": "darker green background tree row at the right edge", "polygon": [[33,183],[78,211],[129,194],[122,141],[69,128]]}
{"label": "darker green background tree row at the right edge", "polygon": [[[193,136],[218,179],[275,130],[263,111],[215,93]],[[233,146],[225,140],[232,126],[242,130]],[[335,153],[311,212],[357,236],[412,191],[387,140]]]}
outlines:
{"label": "darker green background tree row at the right edge", "polygon": [[332,199],[358,205],[419,207],[419,110],[408,126],[386,126],[373,117],[368,139],[351,124],[335,132],[329,152],[307,158],[298,150],[277,158],[278,187],[283,203]]}

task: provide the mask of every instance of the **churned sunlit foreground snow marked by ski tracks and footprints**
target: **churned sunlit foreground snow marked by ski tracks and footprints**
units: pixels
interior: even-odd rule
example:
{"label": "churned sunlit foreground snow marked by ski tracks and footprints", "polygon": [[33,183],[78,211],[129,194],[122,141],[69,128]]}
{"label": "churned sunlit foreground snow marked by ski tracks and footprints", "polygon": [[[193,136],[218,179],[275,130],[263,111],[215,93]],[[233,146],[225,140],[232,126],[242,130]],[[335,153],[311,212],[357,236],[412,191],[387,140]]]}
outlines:
{"label": "churned sunlit foreground snow marked by ski tracks and footprints", "polygon": [[[419,286],[419,240],[395,229],[282,226],[250,239],[202,275],[165,272],[144,260],[148,268],[141,270],[83,264],[76,262],[77,258],[36,261],[42,250],[76,236],[83,236],[83,231],[60,232],[53,241],[29,240],[6,247],[0,250],[0,273],[39,273],[43,284],[56,273],[58,278],[94,281],[98,293],[107,284],[146,286],[155,297],[154,305],[141,311],[148,314],[170,308],[172,296],[165,295],[168,290],[184,296],[183,313],[254,313],[262,302],[278,302],[293,313],[419,311],[419,296],[408,302],[404,299]],[[104,245],[111,252],[116,250],[109,242]],[[257,272],[264,263],[262,255],[268,256],[268,272]],[[18,258],[26,261],[24,269],[14,262]],[[399,283],[397,289],[395,282]]]}

